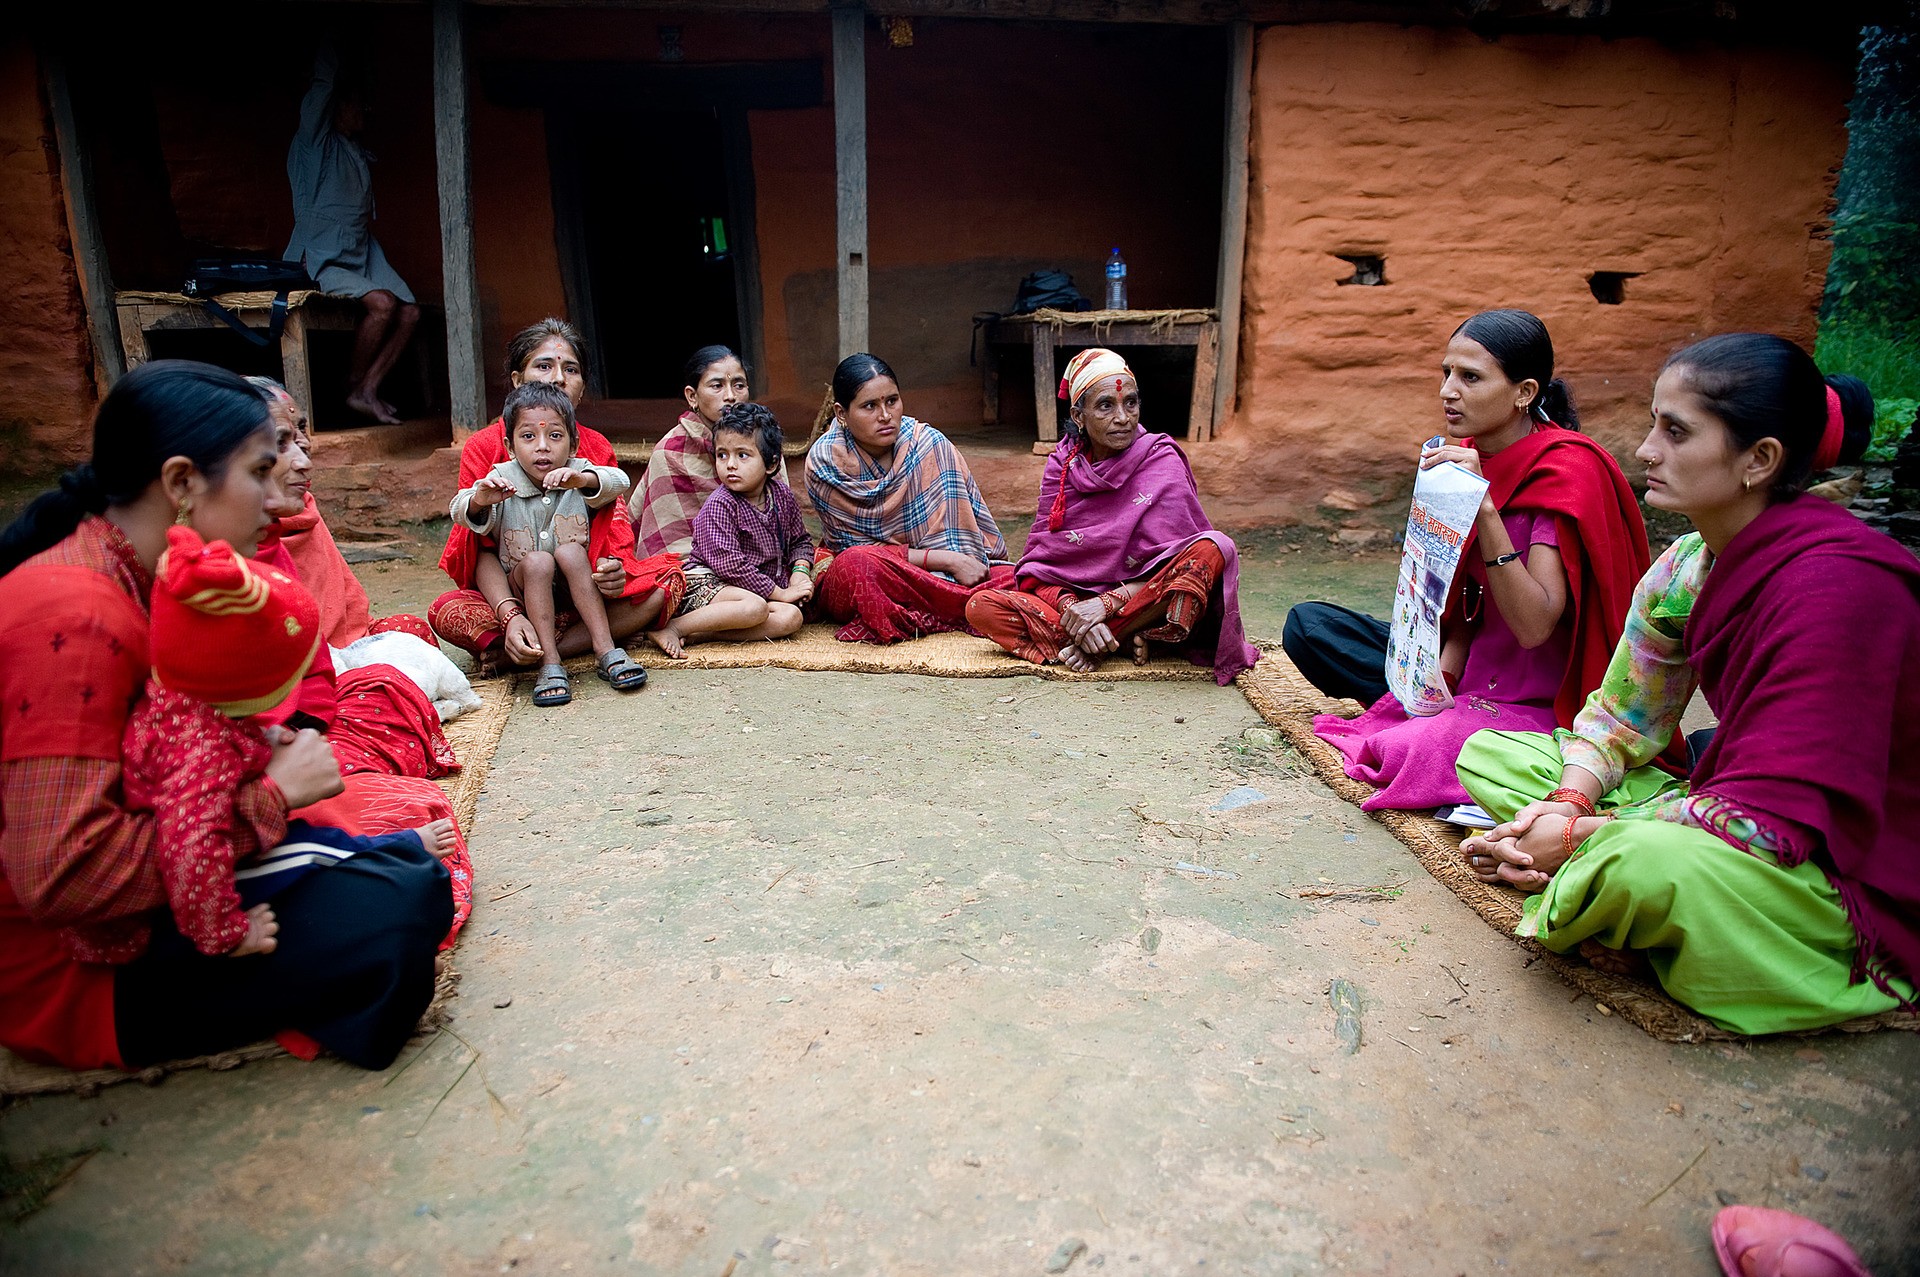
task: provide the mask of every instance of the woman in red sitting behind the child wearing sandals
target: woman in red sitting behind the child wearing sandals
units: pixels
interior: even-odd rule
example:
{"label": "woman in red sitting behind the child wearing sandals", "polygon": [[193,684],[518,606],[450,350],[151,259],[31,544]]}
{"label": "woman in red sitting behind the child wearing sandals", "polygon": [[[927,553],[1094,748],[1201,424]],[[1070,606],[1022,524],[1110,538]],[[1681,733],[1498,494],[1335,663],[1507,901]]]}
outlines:
{"label": "woman in red sitting behind the child wearing sandals", "polygon": [[[566,392],[574,407],[580,407],[588,392],[580,332],[564,319],[541,319],[522,328],[507,344],[507,374],[515,386],[553,382]],[[588,426],[580,426],[580,455],[593,465],[618,465],[607,436]],[[488,470],[509,459],[507,430],[495,419],[461,447],[459,486],[472,488]],[[440,568],[457,588],[434,599],[426,609],[426,620],[434,626],[434,634],[472,653],[482,670],[503,661],[534,664],[541,659],[534,622],[507,588],[507,572],[501,570],[499,559],[482,553],[486,547],[482,538],[457,522],[447,530]],[[624,501],[593,515],[589,553],[595,565],[593,584],[607,597],[607,626],[614,639],[632,638],[655,618],[674,614],[687,588],[680,559],[636,555],[634,522]],[[563,657],[593,649],[588,628],[574,613],[561,613],[557,622]]]}

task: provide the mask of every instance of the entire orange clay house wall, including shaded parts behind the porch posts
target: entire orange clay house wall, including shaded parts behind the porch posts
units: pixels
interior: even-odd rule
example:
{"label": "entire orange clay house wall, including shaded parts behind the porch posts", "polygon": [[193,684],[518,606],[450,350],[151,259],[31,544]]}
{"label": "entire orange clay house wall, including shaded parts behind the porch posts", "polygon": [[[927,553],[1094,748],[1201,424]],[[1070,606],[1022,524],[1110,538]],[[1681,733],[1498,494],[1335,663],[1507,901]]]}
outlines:
{"label": "entire orange clay house wall, including shaded parts behind the porch posts", "polygon": [[[311,38],[300,13],[263,13],[284,25],[263,35]],[[378,234],[438,301],[426,13],[342,6],[338,21],[363,25],[363,46],[378,50],[367,138],[380,156]],[[518,8],[472,12],[472,56],[647,60],[662,23],[682,29],[687,61],[829,61],[822,15]],[[157,31],[125,42],[169,38]],[[870,33],[872,344],[900,369],[912,411],[975,419],[966,319],[1004,305],[1016,267],[1066,263],[1092,292],[1098,257],[1121,242],[1137,305],[1212,294],[1217,157],[1183,152],[1183,138],[1217,136],[1217,38],[922,21],[897,50]],[[52,142],[23,44],[8,46],[4,69],[0,156],[13,181],[0,188],[12,267],[0,367],[13,376],[0,424],[27,422],[71,455],[84,449],[90,386]],[[1173,73],[1183,94],[1137,88]],[[1102,88],[1114,83],[1129,90]],[[303,86],[303,71],[252,84],[238,111],[232,84],[156,88],[182,236],[284,244],[286,136]],[[1620,455],[1672,348],[1738,326],[1811,342],[1847,88],[1847,67],[1818,54],[1386,25],[1263,31],[1240,407],[1192,449],[1215,517],[1396,520],[1413,449],[1436,426],[1438,351],[1475,309],[1546,317],[1590,428]],[[540,111],[478,90],[472,111],[497,399],[492,365],[509,332],[561,313],[564,292]],[[756,392],[801,426],[833,355],[831,106],[756,111],[751,129],[768,351]],[[1384,255],[1388,284],[1338,286],[1340,252]],[[1594,301],[1596,269],[1640,273],[1624,305]],[[1021,398],[1010,384],[1004,401]]]}

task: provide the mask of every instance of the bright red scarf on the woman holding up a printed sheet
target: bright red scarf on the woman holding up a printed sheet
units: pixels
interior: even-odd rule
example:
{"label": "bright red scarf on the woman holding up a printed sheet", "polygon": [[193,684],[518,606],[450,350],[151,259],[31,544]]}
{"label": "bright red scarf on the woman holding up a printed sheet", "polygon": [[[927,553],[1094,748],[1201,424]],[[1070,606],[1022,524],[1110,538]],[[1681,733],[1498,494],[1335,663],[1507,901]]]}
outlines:
{"label": "bright red scarf on the woman holding up a printed sheet", "polygon": [[[1607,663],[1613,661],[1634,603],[1634,586],[1653,566],[1640,503],[1613,453],[1588,436],[1555,424],[1482,455],[1480,472],[1501,513],[1530,509],[1553,515],[1572,616],[1572,645],[1559,695],[1553,697],[1553,716],[1563,728],[1571,728],[1588,693],[1607,676]],[[1467,538],[1461,559],[1478,553],[1476,540],[1476,534]],[[1459,588],[1465,580],[1467,574],[1461,572],[1453,582],[1450,624],[1461,618]],[[1678,759],[1684,762],[1684,741],[1680,749]]]}

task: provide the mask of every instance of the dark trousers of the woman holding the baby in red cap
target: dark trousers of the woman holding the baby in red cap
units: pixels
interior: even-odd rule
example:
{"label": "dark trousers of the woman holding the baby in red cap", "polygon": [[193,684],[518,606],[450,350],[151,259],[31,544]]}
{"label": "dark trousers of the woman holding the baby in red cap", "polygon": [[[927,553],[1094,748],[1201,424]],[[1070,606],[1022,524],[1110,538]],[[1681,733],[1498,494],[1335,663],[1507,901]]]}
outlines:
{"label": "dark trousers of the woman holding the baby in red cap", "polygon": [[209,958],[161,910],[154,943],[113,977],[113,1031],[131,1068],[230,1050],[300,1029],[380,1070],[434,999],[434,952],[453,926],[447,866],[386,839],[271,901],[278,947]]}

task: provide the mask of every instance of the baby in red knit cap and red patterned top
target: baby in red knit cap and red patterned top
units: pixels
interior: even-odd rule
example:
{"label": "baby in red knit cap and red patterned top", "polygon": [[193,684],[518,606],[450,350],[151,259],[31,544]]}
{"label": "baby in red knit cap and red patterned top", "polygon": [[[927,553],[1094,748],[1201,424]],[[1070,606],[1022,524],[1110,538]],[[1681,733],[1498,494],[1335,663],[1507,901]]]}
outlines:
{"label": "baby in red knit cap and red patterned top", "polygon": [[[154,570],[154,676],[127,722],[121,780],[127,803],[154,812],[154,858],[175,926],[204,954],[273,952],[280,928],[267,899],[357,851],[392,839],[407,839],[413,855],[453,851],[451,820],[382,837],[286,820],[282,837],[278,814],[250,816],[236,801],[273,759],[248,716],[305,678],[319,622],[313,595],[286,572],[227,542],[204,543],[192,528],[167,530]],[[63,933],[83,962],[132,962],[150,935],[142,918]]]}

